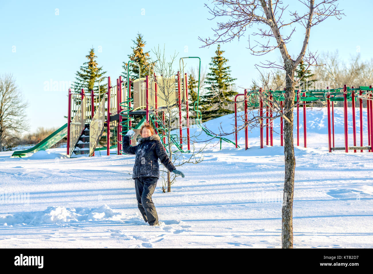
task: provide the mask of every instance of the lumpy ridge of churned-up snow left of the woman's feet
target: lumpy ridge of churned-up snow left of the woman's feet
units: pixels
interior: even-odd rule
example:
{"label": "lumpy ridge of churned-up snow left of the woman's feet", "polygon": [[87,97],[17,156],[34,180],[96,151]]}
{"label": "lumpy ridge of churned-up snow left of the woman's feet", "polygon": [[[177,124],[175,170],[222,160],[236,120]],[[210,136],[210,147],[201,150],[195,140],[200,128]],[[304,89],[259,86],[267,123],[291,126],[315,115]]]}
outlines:
{"label": "lumpy ridge of churned-up snow left of the woman's feet", "polygon": [[66,208],[47,207],[44,211],[30,211],[0,217],[2,225],[36,225],[36,224],[60,224],[66,222],[84,222],[112,219],[115,213],[106,204],[98,208]]}

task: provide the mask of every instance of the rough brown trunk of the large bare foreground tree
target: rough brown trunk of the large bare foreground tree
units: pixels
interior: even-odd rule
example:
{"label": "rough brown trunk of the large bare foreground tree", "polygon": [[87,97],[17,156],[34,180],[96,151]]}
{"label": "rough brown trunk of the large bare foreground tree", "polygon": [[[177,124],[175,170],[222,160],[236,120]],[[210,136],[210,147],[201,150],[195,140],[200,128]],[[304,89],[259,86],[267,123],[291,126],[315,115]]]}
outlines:
{"label": "rough brown trunk of the large bare foreground tree", "polygon": [[283,187],[282,204],[282,248],[293,248],[293,194],[294,194],[294,139],[293,139],[293,121],[294,114],[291,108],[294,104],[294,66],[293,61],[285,61],[286,69],[286,94],[285,109],[291,109],[285,114],[290,122],[285,120],[283,128],[284,134],[284,154],[285,154],[285,182]]}

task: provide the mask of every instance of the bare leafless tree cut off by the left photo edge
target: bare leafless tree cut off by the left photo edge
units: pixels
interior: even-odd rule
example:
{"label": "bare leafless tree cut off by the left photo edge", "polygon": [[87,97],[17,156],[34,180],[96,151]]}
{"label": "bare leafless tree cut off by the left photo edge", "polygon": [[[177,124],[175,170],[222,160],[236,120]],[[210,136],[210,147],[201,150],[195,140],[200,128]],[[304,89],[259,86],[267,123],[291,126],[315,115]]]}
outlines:
{"label": "bare leafless tree cut off by the left photo edge", "polygon": [[27,102],[12,74],[0,76],[0,151],[16,146],[20,134],[28,130],[25,119]]}

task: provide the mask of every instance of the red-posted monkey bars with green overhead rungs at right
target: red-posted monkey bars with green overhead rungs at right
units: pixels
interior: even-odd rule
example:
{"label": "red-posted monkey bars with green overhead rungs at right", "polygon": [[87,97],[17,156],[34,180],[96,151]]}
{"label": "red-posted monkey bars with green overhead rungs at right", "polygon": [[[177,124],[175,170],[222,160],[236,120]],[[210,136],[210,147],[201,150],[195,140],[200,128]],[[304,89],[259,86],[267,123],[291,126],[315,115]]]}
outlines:
{"label": "red-posted monkey bars with green overhead rungs at right", "polygon": [[[299,107],[300,104],[303,105],[303,138],[304,138],[304,147],[307,147],[307,120],[306,120],[306,104],[307,102],[316,102],[316,101],[326,101],[327,103],[327,117],[328,117],[328,143],[329,143],[329,152],[332,150],[368,150],[369,152],[373,152],[372,145],[373,145],[373,88],[372,86],[359,86],[355,87],[347,87],[344,85],[343,88],[339,89],[329,89],[327,87],[326,90],[305,90],[301,92],[297,90],[297,96],[294,98],[294,103],[297,103],[297,146],[299,146]],[[263,123],[263,118],[260,118],[260,148],[263,148],[263,128],[266,127],[266,145],[270,144],[273,146],[273,120],[271,119],[273,115],[273,101],[277,101],[278,105],[281,108],[281,112],[283,111],[283,102],[285,101],[285,91],[284,90],[262,90],[259,89],[255,94],[259,93],[260,96],[257,98],[253,97],[253,91],[247,91],[245,89],[243,94],[238,94],[235,97],[235,128],[237,129],[237,107],[236,107],[236,98],[237,96],[244,96],[244,119],[245,125],[248,123],[248,109],[254,110],[259,109],[260,117],[269,117],[266,118],[266,123]],[[264,106],[263,106],[263,98],[268,98],[269,101],[264,99]],[[360,110],[360,146],[357,146],[357,138],[356,138],[356,116],[355,116],[355,103],[359,100],[359,110]],[[363,144],[363,100],[367,100],[367,128],[368,128],[368,145],[364,146]],[[334,142],[334,107],[333,102],[343,102],[344,106],[344,138],[345,144],[344,147],[336,147]],[[348,119],[347,119],[347,102],[352,102],[352,128],[353,128],[353,146],[348,146]],[[330,111],[330,102],[332,107]],[[249,104],[249,108],[248,108]],[[264,111],[265,109],[265,111]],[[263,116],[263,114],[265,115]],[[237,147],[237,131],[235,133],[235,143]],[[283,146],[283,119],[280,118],[280,145]],[[248,127],[245,127],[245,150],[248,149]]]}

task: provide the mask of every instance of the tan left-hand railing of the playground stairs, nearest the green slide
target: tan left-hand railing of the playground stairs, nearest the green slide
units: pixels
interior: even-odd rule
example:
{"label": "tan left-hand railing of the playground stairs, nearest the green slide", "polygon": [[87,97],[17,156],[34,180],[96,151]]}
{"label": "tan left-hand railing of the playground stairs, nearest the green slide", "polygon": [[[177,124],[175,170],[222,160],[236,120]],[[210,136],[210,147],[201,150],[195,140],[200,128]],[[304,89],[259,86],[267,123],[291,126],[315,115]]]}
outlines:
{"label": "tan left-hand railing of the playground stairs, nearest the green slide", "polygon": [[85,96],[70,123],[70,155],[84,130],[85,123],[88,117],[90,117],[89,115],[87,112],[87,96]]}

